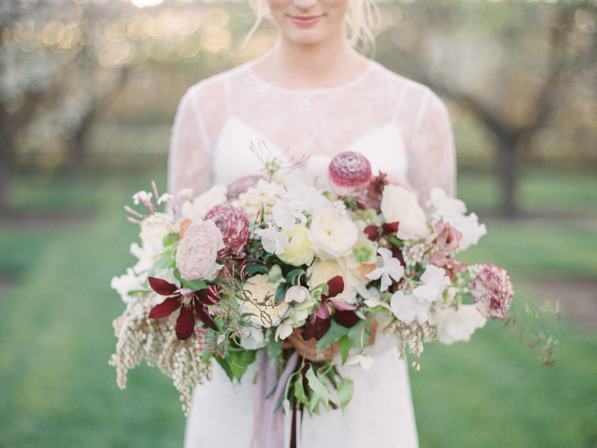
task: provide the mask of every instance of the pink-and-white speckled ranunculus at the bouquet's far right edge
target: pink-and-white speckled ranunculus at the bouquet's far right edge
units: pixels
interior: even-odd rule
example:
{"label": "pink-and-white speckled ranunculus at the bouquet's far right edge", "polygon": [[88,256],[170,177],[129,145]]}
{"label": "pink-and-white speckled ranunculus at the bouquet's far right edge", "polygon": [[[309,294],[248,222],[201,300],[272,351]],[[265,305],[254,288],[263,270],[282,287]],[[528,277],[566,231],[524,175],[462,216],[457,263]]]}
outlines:
{"label": "pink-and-white speckled ranunculus at the bouquet's far right edge", "polygon": [[512,303],[514,288],[506,270],[496,264],[478,265],[479,275],[469,283],[479,313],[503,319]]}

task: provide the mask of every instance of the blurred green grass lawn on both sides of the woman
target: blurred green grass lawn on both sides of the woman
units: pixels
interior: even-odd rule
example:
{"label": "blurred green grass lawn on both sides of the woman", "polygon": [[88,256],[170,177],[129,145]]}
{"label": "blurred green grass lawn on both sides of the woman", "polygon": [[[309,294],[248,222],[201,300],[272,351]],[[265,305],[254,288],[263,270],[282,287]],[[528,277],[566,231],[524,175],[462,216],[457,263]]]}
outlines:
{"label": "blurred green grass lawn on both sides of the woman", "polygon": [[[0,273],[18,274],[0,296],[0,447],[182,446],[184,416],[170,379],[140,366],[121,391],[107,365],[116,342],[110,324],[124,310],[109,283],[134,263],[127,248],[138,233],[122,206],[150,179],[17,180],[17,208],[89,220],[0,223]],[[163,189],[163,176],[156,180]],[[495,185],[462,175],[459,196],[491,214]],[[595,175],[531,171],[520,191],[533,214],[597,206]],[[590,220],[486,224],[489,234],[464,259],[507,268],[520,309],[539,299],[521,286],[528,277],[597,277]],[[565,321],[550,330],[559,345],[549,368],[500,322],[468,344],[428,344],[410,375],[421,447],[597,447],[597,333]]]}

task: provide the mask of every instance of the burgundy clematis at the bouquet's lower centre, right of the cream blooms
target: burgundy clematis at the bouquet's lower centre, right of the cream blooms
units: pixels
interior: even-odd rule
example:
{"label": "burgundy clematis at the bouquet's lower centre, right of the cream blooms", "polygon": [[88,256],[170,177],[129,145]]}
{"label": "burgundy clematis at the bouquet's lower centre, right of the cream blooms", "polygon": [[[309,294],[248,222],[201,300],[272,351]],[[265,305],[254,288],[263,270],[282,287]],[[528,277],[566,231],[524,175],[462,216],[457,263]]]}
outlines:
{"label": "burgundy clematis at the bouquet's lower centre, right of the cream blooms", "polygon": [[327,295],[321,296],[321,304],[319,304],[315,313],[309,316],[309,325],[301,331],[301,336],[305,341],[309,341],[313,337],[319,341],[330,329],[330,308],[328,308],[327,302],[336,308],[334,319],[341,326],[350,328],[359,322],[359,316],[353,311],[359,307],[358,305],[349,305],[337,300],[331,300],[332,297],[336,297],[342,291],[344,291],[344,280],[341,276],[336,276],[328,282]]}

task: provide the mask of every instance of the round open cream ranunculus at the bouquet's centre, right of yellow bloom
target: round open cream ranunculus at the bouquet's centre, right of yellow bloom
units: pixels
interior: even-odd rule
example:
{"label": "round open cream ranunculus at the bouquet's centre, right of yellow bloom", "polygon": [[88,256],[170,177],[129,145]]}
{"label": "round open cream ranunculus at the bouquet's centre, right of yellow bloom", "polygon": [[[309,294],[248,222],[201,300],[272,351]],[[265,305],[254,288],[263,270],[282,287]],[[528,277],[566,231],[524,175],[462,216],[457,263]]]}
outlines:
{"label": "round open cream ranunculus at the bouquet's centre, right of yellow bloom", "polygon": [[348,255],[359,239],[356,224],[336,208],[323,209],[313,216],[310,231],[321,258]]}

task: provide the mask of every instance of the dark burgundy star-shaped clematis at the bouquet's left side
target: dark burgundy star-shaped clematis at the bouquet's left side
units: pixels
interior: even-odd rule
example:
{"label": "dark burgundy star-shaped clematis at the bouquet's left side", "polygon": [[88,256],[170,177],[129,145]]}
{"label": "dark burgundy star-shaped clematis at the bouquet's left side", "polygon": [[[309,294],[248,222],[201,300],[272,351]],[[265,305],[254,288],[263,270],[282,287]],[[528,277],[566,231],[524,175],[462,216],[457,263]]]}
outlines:
{"label": "dark burgundy star-shaped clematis at the bouquet's left side", "polygon": [[211,289],[192,291],[189,288],[179,289],[176,285],[166,280],[149,277],[149,285],[159,295],[168,296],[161,304],[155,305],[149,311],[150,319],[170,316],[174,310],[180,308],[179,318],[176,320],[176,337],[181,341],[190,338],[195,329],[195,313],[205,325],[217,331],[216,323],[207,312],[205,305],[215,305],[220,298]]}

